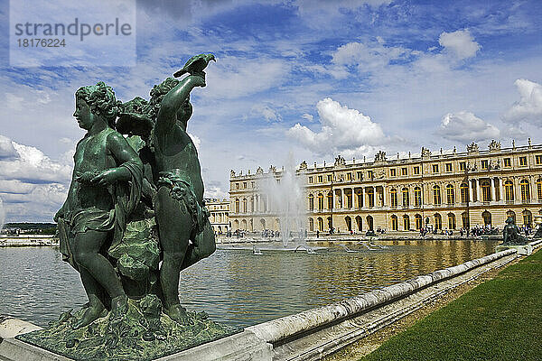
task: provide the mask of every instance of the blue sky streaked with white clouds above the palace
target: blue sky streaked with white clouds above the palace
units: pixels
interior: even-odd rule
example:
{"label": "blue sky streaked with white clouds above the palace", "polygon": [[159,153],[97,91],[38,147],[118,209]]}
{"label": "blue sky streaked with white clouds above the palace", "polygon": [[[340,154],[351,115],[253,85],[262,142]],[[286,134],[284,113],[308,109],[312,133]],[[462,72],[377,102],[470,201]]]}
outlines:
{"label": "blue sky streaked with white clouds above the palace", "polygon": [[[68,14],[50,3],[33,2],[33,14]],[[104,65],[131,60],[129,43],[111,39],[103,52],[89,40],[33,67],[10,65],[14,24],[0,4],[6,221],[51,221],[61,207],[84,134],[71,116],[77,88],[103,80],[123,101],[148,97],[201,52],[217,62],[192,92],[188,131],[209,197],[227,196],[230,169],[542,142],[540,1],[139,0],[134,66]],[[81,19],[98,16],[74,4]],[[76,50],[97,65],[58,66]]]}

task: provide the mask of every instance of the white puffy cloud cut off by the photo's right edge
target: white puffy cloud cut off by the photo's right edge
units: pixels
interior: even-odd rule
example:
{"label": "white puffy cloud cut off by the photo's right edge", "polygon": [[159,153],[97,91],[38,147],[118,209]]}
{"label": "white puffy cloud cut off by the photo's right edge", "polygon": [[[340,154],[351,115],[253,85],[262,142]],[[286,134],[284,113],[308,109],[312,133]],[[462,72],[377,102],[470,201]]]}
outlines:
{"label": "white puffy cloud cut off by the photo's right edge", "polygon": [[528,79],[518,79],[514,84],[519,91],[519,101],[509,108],[503,119],[510,123],[530,121],[542,125],[542,86]]}

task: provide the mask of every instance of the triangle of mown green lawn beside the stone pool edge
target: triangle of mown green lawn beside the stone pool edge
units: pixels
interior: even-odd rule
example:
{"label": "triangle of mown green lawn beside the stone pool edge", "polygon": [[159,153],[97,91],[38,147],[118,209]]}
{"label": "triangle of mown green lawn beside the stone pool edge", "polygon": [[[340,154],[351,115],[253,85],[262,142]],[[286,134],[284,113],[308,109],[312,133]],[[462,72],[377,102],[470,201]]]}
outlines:
{"label": "triangle of mown green lawn beside the stone pool edge", "polygon": [[542,251],[361,360],[542,360]]}

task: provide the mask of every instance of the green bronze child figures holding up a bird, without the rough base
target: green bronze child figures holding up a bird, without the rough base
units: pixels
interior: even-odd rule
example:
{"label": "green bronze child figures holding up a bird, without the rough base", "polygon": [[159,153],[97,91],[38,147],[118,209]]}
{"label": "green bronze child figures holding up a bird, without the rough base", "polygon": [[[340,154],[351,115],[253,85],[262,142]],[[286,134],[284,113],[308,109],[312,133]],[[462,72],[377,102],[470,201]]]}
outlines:
{"label": "green bronze child figures holding up a bird, without the rough base", "polygon": [[181,306],[180,273],[215,250],[203,200],[198,153],[186,133],[190,93],[205,87],[211,54],[121,103],[103,82],[75,93],[74,117],[87,134],[77,144],[68,197],[55,215],[61,253],[79,273],[89,302],[71,323],[122,316],[128,297],[154,293],[173,320]]}

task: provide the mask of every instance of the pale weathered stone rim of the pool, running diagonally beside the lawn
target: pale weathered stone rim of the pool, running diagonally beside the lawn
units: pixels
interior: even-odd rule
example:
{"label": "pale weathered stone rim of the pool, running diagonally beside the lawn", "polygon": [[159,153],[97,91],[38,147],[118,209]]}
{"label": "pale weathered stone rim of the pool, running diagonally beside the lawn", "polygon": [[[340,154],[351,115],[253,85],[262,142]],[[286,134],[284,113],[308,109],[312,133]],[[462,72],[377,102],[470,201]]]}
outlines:
{"label": "pale weathered stone rim of the pool, running diagonally beside the lawn", "polygon": [[[542,240],[529,243],[534,248]],[[330,305],[272,319],[159,360],[317,360],[365,338],[453,288],[518,257],[507,249]],[[0,360],[67,360],[14,339],[37,326],[0,315]]]}

